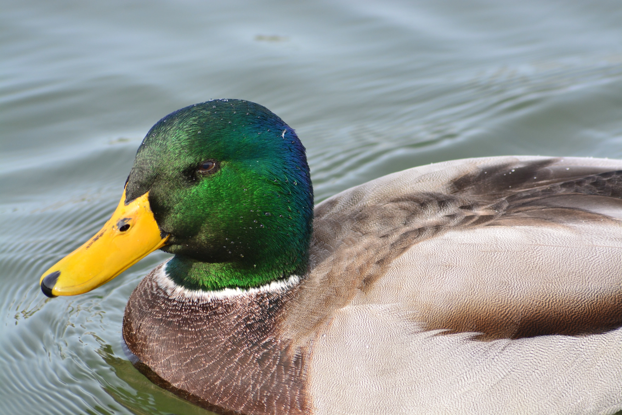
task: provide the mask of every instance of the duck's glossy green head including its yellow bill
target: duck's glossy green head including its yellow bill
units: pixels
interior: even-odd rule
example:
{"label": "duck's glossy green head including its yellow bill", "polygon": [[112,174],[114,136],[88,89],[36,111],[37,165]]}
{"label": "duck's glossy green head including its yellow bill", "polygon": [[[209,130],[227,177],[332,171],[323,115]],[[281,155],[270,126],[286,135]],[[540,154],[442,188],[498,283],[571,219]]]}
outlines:
{"label": "duck's glossy green head including its yellow bill", "polygon": [[188,289],[256,287],[307,268],[313,190],[293,129],[261,105],[212,100],[160,119],[100,232],[45,271],[45,295],[72,296],[147,254],[175,254]]}

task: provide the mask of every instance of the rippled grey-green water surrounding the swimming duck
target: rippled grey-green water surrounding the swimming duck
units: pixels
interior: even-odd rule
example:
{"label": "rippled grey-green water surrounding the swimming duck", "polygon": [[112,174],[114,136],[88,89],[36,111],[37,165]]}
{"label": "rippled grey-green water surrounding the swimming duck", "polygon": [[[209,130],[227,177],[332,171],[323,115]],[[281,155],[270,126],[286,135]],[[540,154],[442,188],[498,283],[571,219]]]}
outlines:
{"label": "rippled grey-green water surrounding the swimming duck", "polygon": [[615,0],[23,0],[0,22],[1,414],[207,414],[121,349],[125,302],[166,254],[82,296],[38,287],[170,111],[267,106],[307,147],[318,201],[460,157],[622,158]]}

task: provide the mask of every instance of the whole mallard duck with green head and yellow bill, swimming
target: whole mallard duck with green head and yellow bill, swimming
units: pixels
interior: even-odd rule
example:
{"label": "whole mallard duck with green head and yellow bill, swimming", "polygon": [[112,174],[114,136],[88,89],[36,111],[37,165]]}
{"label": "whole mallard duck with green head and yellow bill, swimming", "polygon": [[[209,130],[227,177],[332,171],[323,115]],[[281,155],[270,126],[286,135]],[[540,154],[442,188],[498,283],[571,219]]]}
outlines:
{"label": "whole mallard duck with green head and yellow bill, swimming", "polygon": [[129,297],[150,380],[226,414],[622,409],[622,161],[484,157],[313,208],[295,131],[211,100],[160,119],[45,295],[174,254]]}

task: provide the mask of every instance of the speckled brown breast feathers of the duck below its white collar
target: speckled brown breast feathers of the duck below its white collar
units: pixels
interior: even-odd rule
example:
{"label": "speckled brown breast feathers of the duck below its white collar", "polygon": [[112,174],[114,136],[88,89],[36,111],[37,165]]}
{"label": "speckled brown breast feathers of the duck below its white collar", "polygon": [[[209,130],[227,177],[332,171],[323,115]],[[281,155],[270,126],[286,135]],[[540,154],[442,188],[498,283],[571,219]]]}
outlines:
{"label": "speckled brown breast feathers of the duck below its white collar", "polygon": [[151,381],[223,414],[305,414],[307,349],[279,333],[293,291],[205,299],[170,296],[156,268],[137,286],[123,338]]}

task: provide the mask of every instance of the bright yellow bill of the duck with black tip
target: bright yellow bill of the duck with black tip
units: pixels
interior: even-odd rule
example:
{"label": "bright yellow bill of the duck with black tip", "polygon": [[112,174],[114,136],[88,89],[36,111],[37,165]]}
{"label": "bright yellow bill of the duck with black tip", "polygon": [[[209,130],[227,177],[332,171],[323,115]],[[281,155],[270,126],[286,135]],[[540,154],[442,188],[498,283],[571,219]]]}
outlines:
{"label": "bright yellow bill of the duck with black tip", "polygon": [[125,204],[125,191],[112,217],[80,248],[45,271],[39,284],[48,297],[91,291],[166,245],[149,207],[149,192]]}

